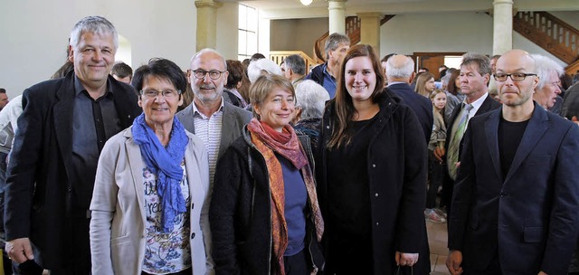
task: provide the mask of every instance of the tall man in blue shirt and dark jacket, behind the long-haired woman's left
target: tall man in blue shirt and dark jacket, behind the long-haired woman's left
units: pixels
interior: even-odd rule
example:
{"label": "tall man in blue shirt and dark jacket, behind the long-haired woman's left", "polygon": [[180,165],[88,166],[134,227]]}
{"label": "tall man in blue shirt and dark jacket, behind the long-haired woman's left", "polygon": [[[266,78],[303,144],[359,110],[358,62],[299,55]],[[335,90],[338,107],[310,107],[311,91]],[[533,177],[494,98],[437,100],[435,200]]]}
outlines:
{"label": "tall man in blue shirt and dark jacket, behind the long-haired woman's left", "polygon": [[322,85],[329,93],[330,99],[336,96],[336,79],[349,48],[350,39],[345,34],[330,34],[326,40],[326,62],[312,69],[305,78]]}

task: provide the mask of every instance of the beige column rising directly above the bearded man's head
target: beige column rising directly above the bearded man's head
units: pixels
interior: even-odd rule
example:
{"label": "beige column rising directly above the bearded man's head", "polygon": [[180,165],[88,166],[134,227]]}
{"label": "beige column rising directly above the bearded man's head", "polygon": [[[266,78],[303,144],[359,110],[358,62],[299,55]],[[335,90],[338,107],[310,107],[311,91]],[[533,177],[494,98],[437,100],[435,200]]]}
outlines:
{"label": "beige column rising directly above the bearded man's head", "polygon": [[213,0],[197,0],[197,34],[196,51],[204,48],[215,49],[217,45],[217,13],[216,9],[223,4]]}

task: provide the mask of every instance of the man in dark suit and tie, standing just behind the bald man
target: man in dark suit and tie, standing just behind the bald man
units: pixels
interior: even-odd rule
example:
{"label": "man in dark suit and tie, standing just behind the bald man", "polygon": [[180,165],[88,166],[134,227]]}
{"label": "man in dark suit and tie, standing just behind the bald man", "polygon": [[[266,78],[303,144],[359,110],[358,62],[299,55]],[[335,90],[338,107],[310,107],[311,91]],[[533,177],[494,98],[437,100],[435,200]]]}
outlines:
{"label": "man in dark suit and tie, standing just behind the bald man", "polygon": [[500,103],[489,96],[490,60],[487,56],[467,52],[460,63],[460,92],[466,99],[457,106],[446,125],[446,166],[442,179],[441,204],[451,212],[451,198],[460,166],[462,136],[469,126],[469,119],[500,107]]}

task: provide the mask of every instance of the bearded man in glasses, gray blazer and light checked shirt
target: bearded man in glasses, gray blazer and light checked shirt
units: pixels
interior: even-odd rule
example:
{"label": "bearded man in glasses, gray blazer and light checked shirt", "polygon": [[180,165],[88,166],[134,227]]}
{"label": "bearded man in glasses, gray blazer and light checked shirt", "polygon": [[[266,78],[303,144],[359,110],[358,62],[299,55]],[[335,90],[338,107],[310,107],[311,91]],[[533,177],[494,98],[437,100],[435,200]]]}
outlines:
{"label": "bearded man in glasses, gray blazer and light checked shirt", "polygon": [[195,99],[176,114],[185,129],[200,137],[209,158],[209,182],[213,185],[217,159],[242,136],[242,128],[252,113],[223,101],[227,83],[227,63],[219,52],[203,49],[191,58],[189,81]]}

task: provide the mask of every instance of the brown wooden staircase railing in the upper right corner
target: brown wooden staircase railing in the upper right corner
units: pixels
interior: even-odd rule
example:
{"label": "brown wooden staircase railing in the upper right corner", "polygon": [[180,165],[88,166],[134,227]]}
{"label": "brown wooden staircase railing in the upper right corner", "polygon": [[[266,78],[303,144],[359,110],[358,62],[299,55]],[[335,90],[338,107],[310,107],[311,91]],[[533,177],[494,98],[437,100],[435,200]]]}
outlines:
{"label": "brown wooden staircase railing in the upper right corner", "polygon": [[546,12],[518,12],[513,30],[569,64],[565,73],[579,70],[579,31]]}

